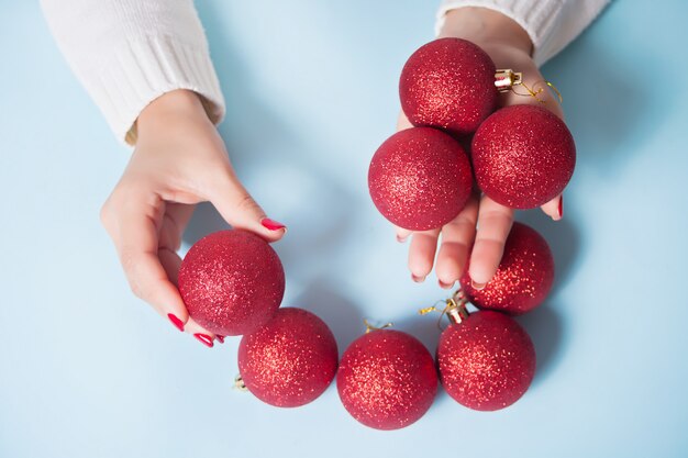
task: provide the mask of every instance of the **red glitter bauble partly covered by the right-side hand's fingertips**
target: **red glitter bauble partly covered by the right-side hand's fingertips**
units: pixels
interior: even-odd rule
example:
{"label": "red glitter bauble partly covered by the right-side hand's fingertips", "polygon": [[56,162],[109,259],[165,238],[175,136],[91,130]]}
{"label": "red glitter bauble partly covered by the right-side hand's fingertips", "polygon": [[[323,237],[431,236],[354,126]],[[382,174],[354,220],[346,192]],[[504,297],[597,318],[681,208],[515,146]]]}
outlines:
{"label": "red glitter bauble partly covered by the right-side hand's fingertips", "polygon": [[554,258],[547,242],[522,223],[513,223],[497,273],[484,289],[473,288],[467,269],[460,278],[462,290],[474,305],[511,315],[540,305],[553,282]]}

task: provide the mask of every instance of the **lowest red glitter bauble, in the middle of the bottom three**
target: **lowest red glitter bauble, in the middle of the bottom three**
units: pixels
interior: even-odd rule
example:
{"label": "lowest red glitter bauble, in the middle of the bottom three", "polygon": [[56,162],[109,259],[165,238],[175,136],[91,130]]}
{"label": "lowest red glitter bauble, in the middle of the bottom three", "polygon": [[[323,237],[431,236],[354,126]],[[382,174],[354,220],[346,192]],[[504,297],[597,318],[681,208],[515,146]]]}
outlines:
{"label": "lowest red glitter bauble, in the middle of the bottom three", "polygon": [[344,351],[336,377],[344,407],[376,429],[398,429],[418,421],[437,391],[437,373],[428,349],[400,331],[377,329]]}

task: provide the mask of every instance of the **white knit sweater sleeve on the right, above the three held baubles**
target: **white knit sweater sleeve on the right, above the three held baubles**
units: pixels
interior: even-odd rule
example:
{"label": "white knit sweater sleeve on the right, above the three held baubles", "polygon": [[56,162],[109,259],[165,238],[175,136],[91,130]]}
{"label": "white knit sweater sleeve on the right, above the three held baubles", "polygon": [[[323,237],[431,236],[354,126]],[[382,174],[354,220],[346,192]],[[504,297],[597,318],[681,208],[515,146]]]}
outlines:
{"label": "white knit sweater sleeve on the right, above the three held baubles", "polygon": [[609,0],[444,0],[437,12],[439,34],[445,14],[462,7],[482,7],[513,19],[533,42],[533,59],[540,66],[573,42],[609,3]]}

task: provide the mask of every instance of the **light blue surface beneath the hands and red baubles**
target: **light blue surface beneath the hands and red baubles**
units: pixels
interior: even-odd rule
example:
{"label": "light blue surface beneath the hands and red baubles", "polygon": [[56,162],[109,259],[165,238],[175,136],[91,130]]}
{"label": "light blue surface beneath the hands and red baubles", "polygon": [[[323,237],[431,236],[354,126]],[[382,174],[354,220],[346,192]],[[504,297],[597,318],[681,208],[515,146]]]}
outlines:
{"label": "light blue surface beneath the hands and red baubles", "polygon": [[[558,269],[520,320],[539,355],[530,391],[495,413],[440,394],[391,433],[356,423],[334,387],[297,410],[232,390],[237,339],[209,350],[129,292],[98,221],[127,152],[34,3],[0,1],[0,457],[688,455],[688,3],[617,1],[544,68],[578,167],[563,222],[519,215]],[[445,292],[409,279],[366,172],[435,2],[199,3],[230,105],[222,134],[290,228],[276,245],[285,304],[319,313],[341,350],[364,316],[434,349],[435,320],[415,310]],[[187,247],[220,226],[202,209]]]}

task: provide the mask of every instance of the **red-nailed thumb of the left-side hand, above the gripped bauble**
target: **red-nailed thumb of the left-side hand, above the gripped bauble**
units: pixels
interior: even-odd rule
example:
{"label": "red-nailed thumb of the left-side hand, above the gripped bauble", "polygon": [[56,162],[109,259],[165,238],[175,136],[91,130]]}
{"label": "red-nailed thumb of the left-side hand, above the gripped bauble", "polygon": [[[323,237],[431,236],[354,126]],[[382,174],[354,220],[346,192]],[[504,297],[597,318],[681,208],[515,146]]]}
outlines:
{"label": "red-nailed thumb of the left-side hand, above the gripped bauble", "polygon": [[233,227],[251,231],[268,242],[280,239],[287,232],[286,225],[265,214],[246,188],[231,172],[226,172],[217,182],[208,197],[224,221]]}

